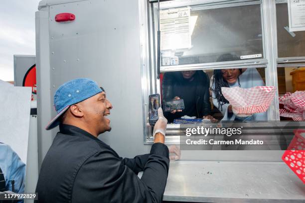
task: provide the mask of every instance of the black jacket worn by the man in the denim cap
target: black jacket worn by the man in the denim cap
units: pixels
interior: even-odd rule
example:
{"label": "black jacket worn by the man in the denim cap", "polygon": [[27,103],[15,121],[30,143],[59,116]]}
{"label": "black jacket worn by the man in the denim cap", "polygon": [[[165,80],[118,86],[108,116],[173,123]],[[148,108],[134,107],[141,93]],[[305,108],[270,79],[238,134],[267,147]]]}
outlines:
{"label": "black jacket worn by the man in the denim cap", "polygon": [[[122,159],[90,133],[60,125],[39,173],[39,203],[160,203],[168,174],[168,148]],[[144,171],[141,179],[137,173]]]}

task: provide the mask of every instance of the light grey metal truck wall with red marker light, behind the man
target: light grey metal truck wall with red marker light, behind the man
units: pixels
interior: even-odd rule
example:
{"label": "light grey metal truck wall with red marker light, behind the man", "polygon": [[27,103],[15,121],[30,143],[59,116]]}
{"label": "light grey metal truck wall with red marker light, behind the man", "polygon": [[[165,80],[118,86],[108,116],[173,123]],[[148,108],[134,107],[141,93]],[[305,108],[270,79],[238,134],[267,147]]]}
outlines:
{"label": "light grey metal truck wall with red marker light, behind the man", "polygon": [[[62,12],[76,19],[55,22]],[[51,95],[75,78],[97,81],[113,104],[112,130],[99,138],[122,156],[150,150],[143,144],[138,12],[138,0],[78,1],[49,8]]]}

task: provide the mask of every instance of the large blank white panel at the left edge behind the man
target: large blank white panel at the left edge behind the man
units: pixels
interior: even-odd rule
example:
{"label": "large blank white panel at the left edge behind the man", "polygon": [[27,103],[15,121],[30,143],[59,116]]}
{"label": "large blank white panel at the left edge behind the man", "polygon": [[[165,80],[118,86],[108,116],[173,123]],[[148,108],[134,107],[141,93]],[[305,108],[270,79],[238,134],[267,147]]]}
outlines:
{"label": "large blank white panel at the left edge behind the man", "polygon": [[0,142],[26,164],[32,88],[0,83]]}

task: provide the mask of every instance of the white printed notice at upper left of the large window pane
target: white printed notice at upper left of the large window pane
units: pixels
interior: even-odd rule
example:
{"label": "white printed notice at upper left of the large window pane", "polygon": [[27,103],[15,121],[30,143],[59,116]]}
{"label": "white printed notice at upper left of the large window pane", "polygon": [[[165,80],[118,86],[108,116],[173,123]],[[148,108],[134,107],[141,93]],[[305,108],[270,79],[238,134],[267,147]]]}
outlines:
{"label": "white printed notice at upper left of the large window pane", "polygon": [[160,10],[160,49],[191,47],[190,8]]}

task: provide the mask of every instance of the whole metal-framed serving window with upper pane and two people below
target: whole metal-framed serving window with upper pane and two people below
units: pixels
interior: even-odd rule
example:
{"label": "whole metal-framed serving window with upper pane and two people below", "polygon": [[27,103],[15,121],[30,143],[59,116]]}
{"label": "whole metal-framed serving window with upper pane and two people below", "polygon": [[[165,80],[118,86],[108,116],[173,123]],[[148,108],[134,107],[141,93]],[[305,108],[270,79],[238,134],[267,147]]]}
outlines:
{"label": "whole metal-framed serving window with upper pane and two people below", "polygon": [[[298,51],[304,45],[304,31],[298,32],[301,38],[289,39],[282,33],[285,28],[282,31],[279,31],[279,27],[277,29],[277,25],[288,21],[287,3],[279,4],[269,0],[169,0],[161,1],[158,7],[156,1],[148,0],[145,9],[141,5],[142,3],[140,10],[146,10],[142,16],[140,11],[140,25],[145,25],[141,27],[142,76],[148,79],[143,81],[146,82],[143,86],[146,103],[144,117],[147,117],[148,112],[148,95],[160,94],[162,105],[165,103],[168,108],[165,110],[162,106],[169,121],[167,143],[179,143],[179,135],[185,130],[178,123],[182,122],[179,118],[184,115],[188,115],[188,119],[205,119],[205,116],[212,119],[209,117],[212,116],[231,123],[239,119],[244,121],[245,118],[230,117],[232,111],[236,111],[230,108],[231,102],[228,103],[227,97],[222,94],[223,87],[272,87],[268,91],[272,91],[274,97],[269,101],[268,111],[264,111],[261,117],[249,118],[246,122],[250,123],[249,126],[259,127],[261,124],[256,124],[258,121],[264,121],[268,126],[270,123],[267,121],[280,120],[279,94],[283,96],[288,90],[295,90],[295,86],[287,85],[287,80],[290,79],[285,74],[290,73],[277,68],[277,60],[285,67],[285,57],[305,56],[304,51]],[[280,14],[282,12],[283,15]],[[158,22],[160,79],[156,67]],[[284,31],[286,35],[291,35]],[[276,34],[278,37],[275,37]],[[294,64],[290,67],[297,66]],[[186,83],[192,74],[195,79]],[[300,74],[303,72],[294,72],[293,76],[297,78]],[[199,83],[201,84],[198,85]],[[198,93],[197,86],[204,89],[206,94]],[[177,98],[183,99],[183,103],[173,102]],[[190,105],[193,108],[187,107]],[[171,109],[173,106],[179,106],[181,110],[174,112]],[[179,116],[173,116],[175,113]],[[286,119],[281,117],[281,120]],[[151,129],[146,128],[145,143],[152,141],[151,134]]]}

